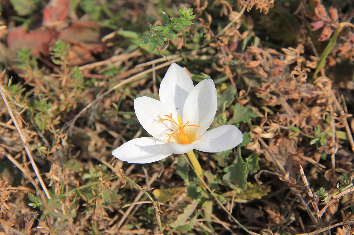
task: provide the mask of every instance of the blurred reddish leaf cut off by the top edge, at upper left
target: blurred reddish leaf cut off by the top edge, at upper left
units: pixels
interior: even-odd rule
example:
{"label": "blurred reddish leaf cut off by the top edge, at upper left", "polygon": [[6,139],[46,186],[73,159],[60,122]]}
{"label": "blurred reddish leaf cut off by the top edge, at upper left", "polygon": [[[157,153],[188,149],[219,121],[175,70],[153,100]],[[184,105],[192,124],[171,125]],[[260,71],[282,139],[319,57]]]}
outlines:
{"label": "blurred reddish leaf cut off by the top edge, at upper left", "polygon": [[68,16],[70,0],[51,0],[43,10],[43,25],[64,20]]}

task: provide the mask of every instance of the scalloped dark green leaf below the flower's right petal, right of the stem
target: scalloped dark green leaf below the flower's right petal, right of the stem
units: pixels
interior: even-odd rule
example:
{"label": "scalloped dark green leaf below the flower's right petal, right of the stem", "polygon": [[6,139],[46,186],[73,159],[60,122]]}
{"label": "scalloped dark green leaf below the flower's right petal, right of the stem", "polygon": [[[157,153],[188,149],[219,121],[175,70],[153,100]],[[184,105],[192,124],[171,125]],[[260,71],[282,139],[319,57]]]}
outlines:
{"label": "scalloped dark green leaf below the flower's right petal, right of the stem", "polygon": [[224,185],[231,187],[237,192],[247,188],[247,163],[245,163],[240,154],[237,154],[237,158],[232,165],[224,168],[224,172],[226,173],[222,177]]}

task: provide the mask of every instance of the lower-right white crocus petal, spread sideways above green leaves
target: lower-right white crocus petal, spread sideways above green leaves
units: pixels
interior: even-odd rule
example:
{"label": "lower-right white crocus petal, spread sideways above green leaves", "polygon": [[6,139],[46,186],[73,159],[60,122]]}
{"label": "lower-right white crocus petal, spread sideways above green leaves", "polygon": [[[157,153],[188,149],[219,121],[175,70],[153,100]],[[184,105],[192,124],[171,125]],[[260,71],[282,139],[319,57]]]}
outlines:
{"label": "lower-right white crocus petal, spread sideways above green leaves", "polygon": [[239,145],[242,137],[241,131],[234,125],[219,126],[202,134],[195,149],[203,152],[226,151]]}

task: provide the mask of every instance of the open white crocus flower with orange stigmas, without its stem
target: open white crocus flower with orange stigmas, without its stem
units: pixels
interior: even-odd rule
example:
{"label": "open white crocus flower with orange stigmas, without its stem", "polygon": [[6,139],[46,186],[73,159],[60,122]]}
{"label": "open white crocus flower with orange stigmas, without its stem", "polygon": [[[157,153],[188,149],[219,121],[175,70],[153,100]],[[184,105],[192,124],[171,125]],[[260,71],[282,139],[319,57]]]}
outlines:
{"label": "open white crocus flower with orange stigmas, without its stem", "polygon": [[153,137],[132,139],[112,152],[129,163],[156,162],[172,153],[193,149],[221,152],[242,142],[242,133],[234,125],[207,131],[217,109],[213,80],[205,79],[193,86],[187,72],[172,64],[160,85],[160,101],[143,96],[134,100],[136,116]]}

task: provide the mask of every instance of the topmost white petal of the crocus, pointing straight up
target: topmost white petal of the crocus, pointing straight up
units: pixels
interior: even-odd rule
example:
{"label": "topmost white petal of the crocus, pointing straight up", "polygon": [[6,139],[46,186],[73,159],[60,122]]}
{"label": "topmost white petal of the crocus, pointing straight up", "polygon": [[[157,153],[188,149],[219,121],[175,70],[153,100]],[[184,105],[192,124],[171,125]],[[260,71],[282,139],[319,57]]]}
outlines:
{"label": "topmost white petal of the crocus, pointing straight up", "polygon": [[193,82],[188,73],[181,66],[173,63],[161,81],[160,101],[166,106],[176,109],[177,114],[182,116],[185,99],[193,88]]}

